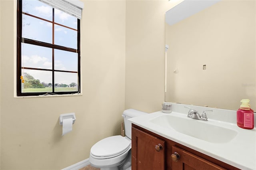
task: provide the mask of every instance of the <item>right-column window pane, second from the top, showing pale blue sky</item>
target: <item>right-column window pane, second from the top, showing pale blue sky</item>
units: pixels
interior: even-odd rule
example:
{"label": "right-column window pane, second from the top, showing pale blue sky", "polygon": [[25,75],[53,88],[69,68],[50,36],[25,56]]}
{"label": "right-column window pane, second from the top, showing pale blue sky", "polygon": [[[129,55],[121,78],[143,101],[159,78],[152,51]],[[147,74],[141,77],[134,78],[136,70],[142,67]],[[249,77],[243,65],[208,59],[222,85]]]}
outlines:
{"label": "right-column window pane, second from the top, showing pale blue sky", "polygon": [[54,24],[54,44],[77,49],[77,31]]}

